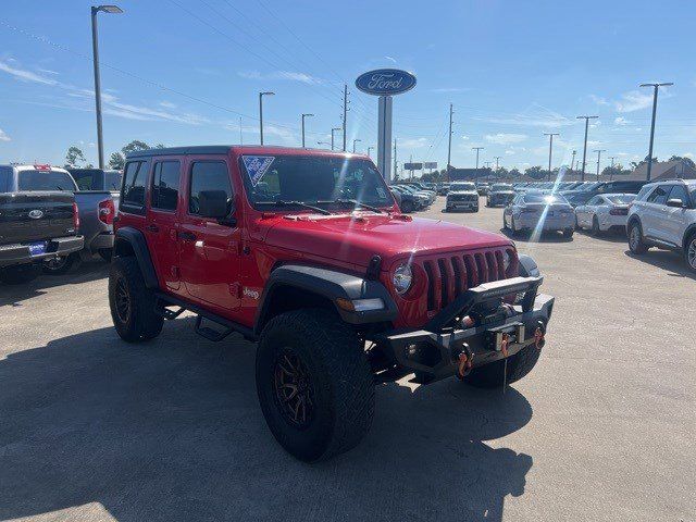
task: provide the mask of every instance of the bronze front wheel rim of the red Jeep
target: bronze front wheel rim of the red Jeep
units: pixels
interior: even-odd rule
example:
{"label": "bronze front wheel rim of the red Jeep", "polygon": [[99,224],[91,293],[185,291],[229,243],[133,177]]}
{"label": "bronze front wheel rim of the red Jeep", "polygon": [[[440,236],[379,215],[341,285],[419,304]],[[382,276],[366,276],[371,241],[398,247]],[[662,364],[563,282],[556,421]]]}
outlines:
{"label": "bronze front wheel rim of the red Jeep", "polygon": [[273,365],[273,390],[285,421],[299,430],[314,417],[314,387],[307,366],[290,348],[284,348]]}

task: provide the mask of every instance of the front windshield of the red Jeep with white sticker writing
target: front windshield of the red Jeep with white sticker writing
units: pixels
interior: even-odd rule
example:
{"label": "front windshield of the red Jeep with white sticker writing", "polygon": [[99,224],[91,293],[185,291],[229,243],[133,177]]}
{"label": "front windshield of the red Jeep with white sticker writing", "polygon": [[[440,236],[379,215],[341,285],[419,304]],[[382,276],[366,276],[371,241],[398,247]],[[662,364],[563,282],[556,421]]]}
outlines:
{"label": "front windshield of the red Jeep with white sticker writing", "polygon": [[328,206],[355,200],[372,207],[391,207],[394,198],[372,162],[316,156],[243,156],[241,169],[249,201],[254,208],[282,202]]}

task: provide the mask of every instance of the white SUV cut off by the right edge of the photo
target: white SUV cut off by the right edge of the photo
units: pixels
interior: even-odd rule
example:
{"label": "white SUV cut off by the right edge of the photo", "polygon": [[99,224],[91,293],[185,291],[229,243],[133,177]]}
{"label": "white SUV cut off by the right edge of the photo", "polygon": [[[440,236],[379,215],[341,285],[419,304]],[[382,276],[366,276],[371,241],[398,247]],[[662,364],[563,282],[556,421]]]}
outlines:
{"label": "white SUV cut off by the right edge of the photo", "polygon": [[633,253],[675,250],[696,272],[696,179],[645,185],[629,210],[626,232]]}

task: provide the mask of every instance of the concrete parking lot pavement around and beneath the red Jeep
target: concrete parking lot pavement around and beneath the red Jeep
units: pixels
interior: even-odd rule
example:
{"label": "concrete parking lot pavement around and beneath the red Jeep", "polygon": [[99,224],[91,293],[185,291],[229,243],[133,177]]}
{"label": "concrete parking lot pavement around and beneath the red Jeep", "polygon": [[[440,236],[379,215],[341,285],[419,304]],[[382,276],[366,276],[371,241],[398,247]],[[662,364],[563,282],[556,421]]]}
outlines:
{"label": "concrete parking lot pavement around and beneath the red Jeep", "polygon": [[[421,215],[502,223],[442,204]],[[695,277],[621,236],[515,240],[557,298],[535,370],[381,386],[366,439],[319,465],[268,431],[252,344],[189,315],[126,345],[99,261],[0,286],[0,519],[695,520]]]}

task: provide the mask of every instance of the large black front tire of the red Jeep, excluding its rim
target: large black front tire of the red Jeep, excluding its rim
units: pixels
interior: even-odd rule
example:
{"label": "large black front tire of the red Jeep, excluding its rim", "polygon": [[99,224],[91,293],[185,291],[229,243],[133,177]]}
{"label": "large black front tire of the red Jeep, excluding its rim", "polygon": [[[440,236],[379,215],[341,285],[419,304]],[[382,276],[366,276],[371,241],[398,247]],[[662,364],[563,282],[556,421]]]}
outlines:
{"label": "large black front tire of the red Jeep, excluding its rim", "polygon": [[[293,425],[277,398],[276,361],[294,352],[313,394],[308,425]],[[306,462],[330,459],[360,443],[374,413],[374,382],[363,344],[332,311],[295,310],[273,318],[257,348],[257,393],[276,440]]]}

